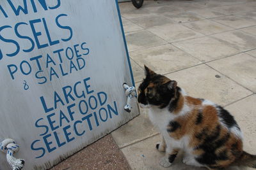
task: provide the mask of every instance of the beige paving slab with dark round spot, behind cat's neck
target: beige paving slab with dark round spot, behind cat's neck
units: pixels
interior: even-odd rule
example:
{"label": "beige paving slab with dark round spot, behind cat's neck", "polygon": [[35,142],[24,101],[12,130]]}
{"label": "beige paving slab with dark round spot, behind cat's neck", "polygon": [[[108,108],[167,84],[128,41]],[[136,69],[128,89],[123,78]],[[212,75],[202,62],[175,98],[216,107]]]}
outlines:
{"label": "beige paving slab with dark round spot, behind cat's neck", "polygon": [[178,86],[190,96],[208,99],[222,106],[252,94],[250,90],[205,64],[166,74],[166,76],[171,80],[176,80]]}

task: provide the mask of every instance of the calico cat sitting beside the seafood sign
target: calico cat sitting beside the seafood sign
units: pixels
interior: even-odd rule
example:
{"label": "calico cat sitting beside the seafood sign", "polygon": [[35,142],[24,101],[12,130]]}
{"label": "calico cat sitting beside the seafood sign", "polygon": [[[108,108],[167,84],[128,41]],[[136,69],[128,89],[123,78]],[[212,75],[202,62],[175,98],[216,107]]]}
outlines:
{"label": "calico cat sitting beside the seafood sign", "polygon": [[208,169],[228,166],[256,168],[256,155],[243,151],[243,136],[234,117],[221,106],[187,96],[177,81],[145,66],[146,78],[138,88],[138,103],[149,108],[151,122],[163,136],[157,150],[166,152],[163,167],[172,165],[179,150],[184,164]]}

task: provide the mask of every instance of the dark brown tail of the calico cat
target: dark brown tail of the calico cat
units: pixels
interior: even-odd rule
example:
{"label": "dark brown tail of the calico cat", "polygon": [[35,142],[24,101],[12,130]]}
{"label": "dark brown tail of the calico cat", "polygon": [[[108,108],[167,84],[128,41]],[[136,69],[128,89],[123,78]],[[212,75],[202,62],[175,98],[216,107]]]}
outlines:
{"label": "dark brown tail of the calico cat", "polygon": [[232,165],[256,168],[256,155],[243,151],[242,155]]}

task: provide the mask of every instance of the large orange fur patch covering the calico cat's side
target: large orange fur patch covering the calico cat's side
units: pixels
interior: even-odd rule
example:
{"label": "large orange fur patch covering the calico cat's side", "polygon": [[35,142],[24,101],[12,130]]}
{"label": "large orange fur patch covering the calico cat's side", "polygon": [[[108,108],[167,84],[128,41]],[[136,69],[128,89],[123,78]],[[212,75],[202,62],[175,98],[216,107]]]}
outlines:
{"label": "large orange fur patch covering the calico cat's side", "polygon": [[[185,100],[180,100],[178,103],[176,113],[179,113],[180,108],[182,108],[185,102],[189,106],[193,106],[194,109],[185,116],[177,117],[173,120],[173,122],[179,124],[179,128],[174,132],[169,132],[170,136],[174,139],[180,139],[184,135],[188,135],[190,138],[189,146],[191,148],[196,148],[196,146],[200,146],[202,142],[204,142],[204,138],[206,138],[204,136],[214,135],[218,130],[220,133],[216,134],[215,140],[223,140],[224,145],[217,148],[215,154],[225,154],[228,159],[216,160],[216,164],[211,166],[227,167],[234,162],[243,152],[243,142],[234,134],[231,134],[226,127],[221,126],[216,108],[211,105],[203,106],[200,99],[185,97]],[[196,124],[198,119],[200,119],[200,124]],[[216,127],[218,127],[218,129],[216,129]],[[200,134],[204,134],[202,135],[202,138],[199,138]],[[198,156],[203,155],[204,153],[205,151],[200,148],[193,150],[193,154]]]}

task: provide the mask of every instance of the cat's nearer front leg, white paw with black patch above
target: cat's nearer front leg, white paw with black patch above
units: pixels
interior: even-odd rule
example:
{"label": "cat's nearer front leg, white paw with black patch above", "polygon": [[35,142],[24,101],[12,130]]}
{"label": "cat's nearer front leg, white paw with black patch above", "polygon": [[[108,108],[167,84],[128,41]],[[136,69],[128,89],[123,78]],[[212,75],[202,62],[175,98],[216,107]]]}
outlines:
{"label": "cat's nearer front leg, white paw with black patch above", "polygon": [[163,167],[170,167],[172,165],[172,162],[177,157],[178,153],[179,153],[179,149],[169,149],[169,148],[167,148],[166,149],[166,155],[160,159],[159,164]]}

